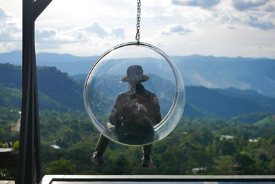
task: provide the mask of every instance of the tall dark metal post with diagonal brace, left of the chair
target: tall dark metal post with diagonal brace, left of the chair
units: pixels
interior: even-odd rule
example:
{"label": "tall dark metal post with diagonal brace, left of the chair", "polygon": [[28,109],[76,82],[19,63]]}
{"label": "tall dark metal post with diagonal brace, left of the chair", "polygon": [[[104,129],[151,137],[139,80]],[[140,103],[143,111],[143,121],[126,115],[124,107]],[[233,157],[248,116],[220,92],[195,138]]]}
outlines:
{"label": "tall dark metal post with diagonal brace, left of the chair", "polygon": [[16,181],[19,184],[39,183],[42,179],[34,23],[51,1],[23,0],[22,114]]}

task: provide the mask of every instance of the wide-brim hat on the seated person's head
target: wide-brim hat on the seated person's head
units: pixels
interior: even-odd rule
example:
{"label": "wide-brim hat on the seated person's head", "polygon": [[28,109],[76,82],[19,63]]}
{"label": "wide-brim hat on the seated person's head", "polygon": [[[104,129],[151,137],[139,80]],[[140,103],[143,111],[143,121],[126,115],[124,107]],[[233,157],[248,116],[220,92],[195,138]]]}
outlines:
{"label": "wide-brim hat on the seated person's head", "polygon": [[127,68],[127,74],[121,77],[122,82],[136,81],[144,82],[149,79],[148,76],[143,74],[143,69],[141,65],[131,65]]}

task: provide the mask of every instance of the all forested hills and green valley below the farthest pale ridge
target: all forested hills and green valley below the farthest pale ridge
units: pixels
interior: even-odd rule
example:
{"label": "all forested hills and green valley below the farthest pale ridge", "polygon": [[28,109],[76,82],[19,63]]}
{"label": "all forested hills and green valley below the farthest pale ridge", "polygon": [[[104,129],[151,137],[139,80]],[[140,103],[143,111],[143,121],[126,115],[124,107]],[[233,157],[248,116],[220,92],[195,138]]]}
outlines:
{"label": "all forested hills and green valley below the farthest pale ridge", "polygon": [[[18,149],[21,68],[0,64],[0,71],[1,147]],[[38,78],[44,174],[275,174],[274,108],[261,94],[187,86],[184,116],[153,145],[152,167],[141,167],[141,147],[115,143],[105,163],[94,165],[90,158],[99,133],[83,109],[83,84],[56,68],[38,68]],[[102,84],[96,99],[110,108],[115,96],[104,89],[115,88]],[[10,170],[0,170],[0,179],[12,177]]]}

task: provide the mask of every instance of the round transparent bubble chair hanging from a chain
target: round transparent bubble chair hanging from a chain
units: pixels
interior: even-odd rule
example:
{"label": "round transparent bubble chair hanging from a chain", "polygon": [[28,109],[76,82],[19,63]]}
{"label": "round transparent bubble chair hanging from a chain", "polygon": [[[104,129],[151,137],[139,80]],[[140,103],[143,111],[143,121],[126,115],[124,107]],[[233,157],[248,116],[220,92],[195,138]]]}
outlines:
{"label": "round transparent bubble chair hanging from a chain", "polygon": [[91,67],[84,103],[92,123],[108,139],[147,145],[164,139],[179,123],[184,81],[162,50],[148,43],[123,43]]}

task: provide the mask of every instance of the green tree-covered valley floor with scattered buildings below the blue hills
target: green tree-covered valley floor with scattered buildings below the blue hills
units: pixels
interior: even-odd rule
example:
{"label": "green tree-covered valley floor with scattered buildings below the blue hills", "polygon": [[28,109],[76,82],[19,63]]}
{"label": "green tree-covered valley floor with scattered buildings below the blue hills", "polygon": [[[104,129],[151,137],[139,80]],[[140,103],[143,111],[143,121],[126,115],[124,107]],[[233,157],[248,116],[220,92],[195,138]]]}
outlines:
{"label": "green tree-covered valley floor with scattered buildings below the blue hills", "polygon": [[[15,148],[16,110],[1,108],[0,141]],[[10,116],[7,114],[10,114]],[[153,145],[153,166],[141,167],[142,148],[110,143],[105,163],[91,163],[99,133],[83,112],[41,111],[44,174],[275,174],[275,121],[250,114],[256,123],[236,119],[183,118]],[[267,122],[263,125],[263,121]],[[12,129],[12,131],[11,131]],[[229,136],[230,135],[230,136]],[[11,143],[10,143],[11,142]],[[58,145],[53,147],[52,145]],[[12,178],[9,170],[2,170]],[[3,178],[3,176],[0,176]]]}

